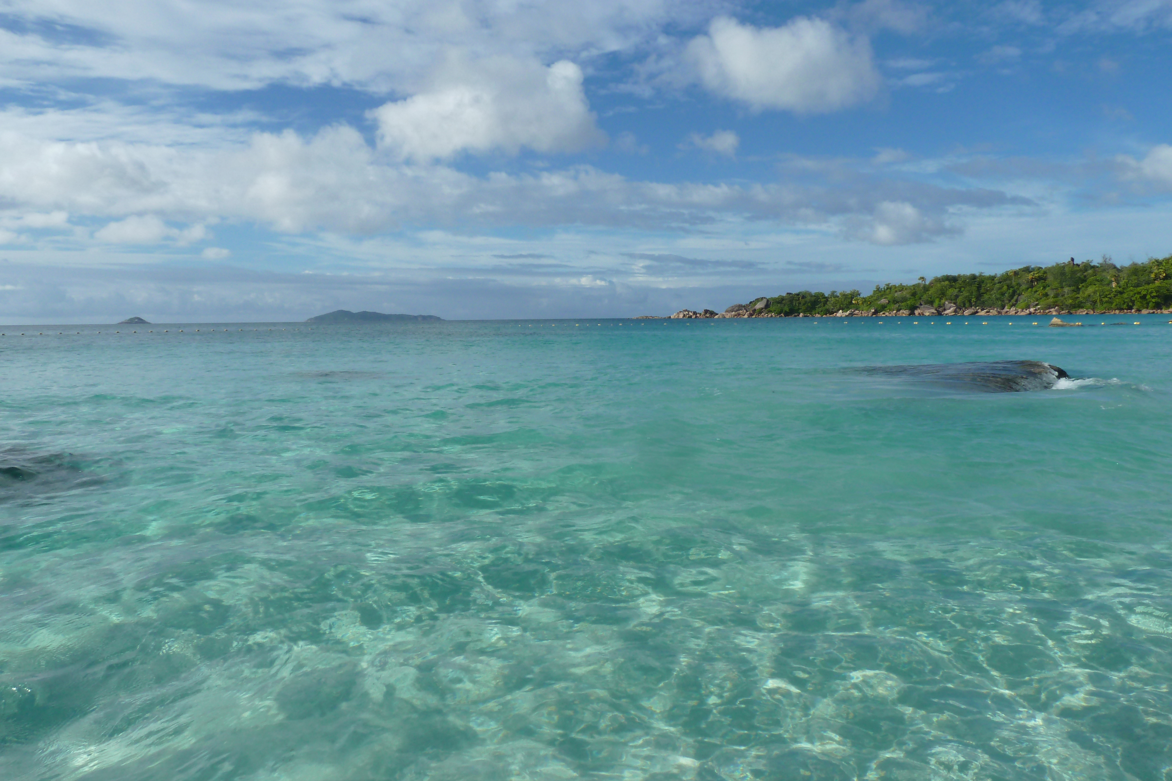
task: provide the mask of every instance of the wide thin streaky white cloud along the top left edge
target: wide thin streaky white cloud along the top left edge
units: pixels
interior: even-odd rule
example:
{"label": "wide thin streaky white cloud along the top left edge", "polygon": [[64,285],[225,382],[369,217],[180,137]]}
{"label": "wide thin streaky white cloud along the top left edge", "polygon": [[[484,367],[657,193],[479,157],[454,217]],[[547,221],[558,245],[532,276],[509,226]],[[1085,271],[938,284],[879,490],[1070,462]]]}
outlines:
{"label": "wide thin streaky white cloud along the top left edge", "polygon": [[[709,2],[594,0],[220,0],[115,5],[12,0],[0,28],[7,83],[64,78],[139,81],[218,90],[335,84],[415,93],[437,55],[607,53],[654,40],[667,21],[689,25]],[[16,30],[16,32],[13,32]],[[560,54],[557,54],[560,53]],[[553,56],[551,56],[553,55]]]}

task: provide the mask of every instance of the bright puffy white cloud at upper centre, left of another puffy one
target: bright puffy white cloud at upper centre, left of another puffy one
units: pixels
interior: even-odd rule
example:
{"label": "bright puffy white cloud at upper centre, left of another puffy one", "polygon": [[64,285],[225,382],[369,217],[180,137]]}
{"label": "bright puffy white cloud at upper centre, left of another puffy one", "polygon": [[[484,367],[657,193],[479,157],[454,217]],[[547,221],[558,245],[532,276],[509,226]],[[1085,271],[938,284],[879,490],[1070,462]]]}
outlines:
{"label": "bright puffy white cloud at upper centre, left of another puffy one", "polygon": [[432,88],[370,112],[379,143],[403,159],[522,148],[573,152],[605,136],[582,93],[582,71],[568,60],[495,57],[450,62]]}

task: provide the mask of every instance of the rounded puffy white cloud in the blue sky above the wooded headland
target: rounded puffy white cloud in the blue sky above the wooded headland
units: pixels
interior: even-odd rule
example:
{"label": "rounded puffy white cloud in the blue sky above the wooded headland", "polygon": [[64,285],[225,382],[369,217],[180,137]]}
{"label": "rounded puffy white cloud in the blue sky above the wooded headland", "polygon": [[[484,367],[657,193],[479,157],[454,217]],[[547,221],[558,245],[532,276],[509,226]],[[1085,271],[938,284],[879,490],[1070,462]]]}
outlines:
{"label": "rounded puffy white cloud in the blue sky above the wooded headland", "polygon": [[704,87],[754,110],[834,111],[871,100],[880,84],[867,40],[822,19],[757,28],[718,16],[687,56]]}

